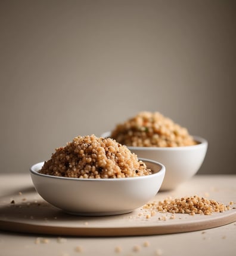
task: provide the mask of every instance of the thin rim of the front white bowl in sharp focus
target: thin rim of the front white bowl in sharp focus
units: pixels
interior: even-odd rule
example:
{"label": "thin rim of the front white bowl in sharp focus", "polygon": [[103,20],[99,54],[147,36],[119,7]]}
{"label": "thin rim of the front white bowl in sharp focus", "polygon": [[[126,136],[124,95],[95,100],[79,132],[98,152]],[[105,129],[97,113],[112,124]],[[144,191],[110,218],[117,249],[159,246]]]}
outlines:
{"label": "thin rim of the front white bowl in sharp focus", "polygon": [[160,170],[159,172],[155,172],[152,173],[151,175],[144,175],[144,176],[136,176],[136,177],[126,177],[126,178],[101,178],[101,179],[94,179],[94,178],[70,178],[70,177],[61,177],[61,176],[53,176],[53,175],[48,175],[48,174],[43,174],[43,173],[39,173],[39,170],[35,170],[37,166],[42,166],[45,162],[41,161],[39,163],[35,163],[30,167],[30,173],[32,175],[36,175],[36,176],[41,176],[42,178],[51,178],[51,179],[59,179],[59,180],[67,180],[67,181],[86,181],[86,182],[102,182],[102,181],[109,181],[109,182],[121,182],[121,181],[131,181],[133,179],[148,179],[150,177],[153,176],[162,176],[165,174],[166,172],[166,167],[162,164],[159,163],[158,161],[154,161],[151,159],[143,159],[143,158],[138,158],[138,160],[141,161],[147,161],[153,164],[157,164],[160,166]]}

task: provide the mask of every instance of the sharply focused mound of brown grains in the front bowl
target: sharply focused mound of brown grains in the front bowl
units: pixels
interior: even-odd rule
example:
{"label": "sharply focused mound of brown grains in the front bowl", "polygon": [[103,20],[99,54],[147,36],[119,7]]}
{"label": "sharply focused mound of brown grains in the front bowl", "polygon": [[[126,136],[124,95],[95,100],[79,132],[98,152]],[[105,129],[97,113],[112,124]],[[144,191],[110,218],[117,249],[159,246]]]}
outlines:
{"label": "sharply focused mound of brown grains in the front bowl", "polygon": [[60,147],[39,171],[70,178],[126,178],[151,174],[136,154],[111,138],[78,136]]}

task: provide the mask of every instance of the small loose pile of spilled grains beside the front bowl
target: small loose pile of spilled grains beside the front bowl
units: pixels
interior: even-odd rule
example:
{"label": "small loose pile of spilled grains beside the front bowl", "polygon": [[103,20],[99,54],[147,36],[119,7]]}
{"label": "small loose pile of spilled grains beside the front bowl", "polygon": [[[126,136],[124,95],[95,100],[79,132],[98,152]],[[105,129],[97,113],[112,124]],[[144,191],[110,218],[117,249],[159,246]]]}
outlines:
{"label": "small loose pile of spilled grains beside the front bowl", "polygon": [[156,209],[159,212],[171,212],[172,214],[204,214],[211,215],[213,212],[225,212],[230,208],[215,200],[204,197],[191,196],[176,199],[167,198],[163,202],[147,203],[145,209]]}

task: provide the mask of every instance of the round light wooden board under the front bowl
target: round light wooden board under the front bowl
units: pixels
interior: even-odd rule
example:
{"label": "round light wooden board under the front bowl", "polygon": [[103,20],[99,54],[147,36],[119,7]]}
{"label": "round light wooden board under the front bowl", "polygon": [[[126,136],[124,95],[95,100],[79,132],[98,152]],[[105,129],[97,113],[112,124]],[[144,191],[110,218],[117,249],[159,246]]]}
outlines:
{"label": "round light wooden board under the front bowl", "polygon": [[[160,195],[156,197],[155,200],[159,200]],[[236,221],[236,209],[212,215],[175,214],[174,219],[171,216],[170,213],[156,212],[151,217],[150,211],[142,208],[129,214],[107,217],[69,215],[46,203],[33,188],[30,188],[23,194],[15,195],[14,198],[1,198],[0,229],[57,236],[141,236],[181,233],[232,223]]]}

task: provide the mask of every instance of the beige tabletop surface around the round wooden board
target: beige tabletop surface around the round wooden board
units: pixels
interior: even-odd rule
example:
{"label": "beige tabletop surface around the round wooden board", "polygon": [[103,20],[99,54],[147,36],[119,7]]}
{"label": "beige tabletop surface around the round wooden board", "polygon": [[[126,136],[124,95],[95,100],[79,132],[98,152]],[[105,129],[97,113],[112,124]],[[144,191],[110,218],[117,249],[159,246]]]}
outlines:
{"label": "beige tabletop surface around the round wooden board", "polygon": [[[32,189],[29,174],[0,175],[0,202]],[[24,192],[23,192],[24,193]],[[236,175],[197,175],[160,197],[198,196],[236,202]],[[235,205],[233,205],[235,206]],[[194,218],[194,217],[193,217]],[[1,226],[0,226],[1,230]],[[236,223],[154,236],[69,237],[0,231],[0,256],[20,255],[236,255]]]}

